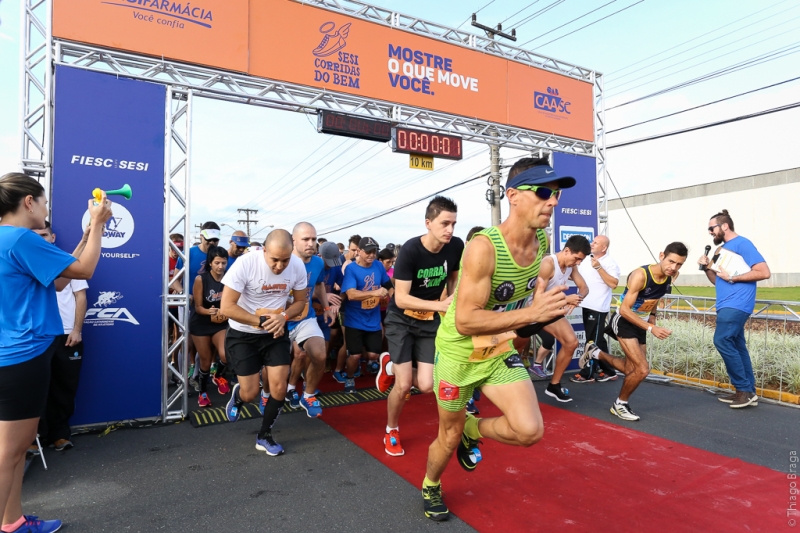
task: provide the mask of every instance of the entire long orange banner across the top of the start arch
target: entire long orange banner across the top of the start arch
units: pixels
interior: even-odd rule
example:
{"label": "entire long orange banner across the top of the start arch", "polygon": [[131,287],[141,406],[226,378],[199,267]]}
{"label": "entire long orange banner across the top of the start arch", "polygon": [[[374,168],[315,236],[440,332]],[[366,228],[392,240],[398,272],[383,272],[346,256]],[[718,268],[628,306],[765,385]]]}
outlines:
{"label": "entire long orange banner across the top of the start arch", "polygon": [[56,37],[594,140],[587,82],[290,0],[54,0]]}

